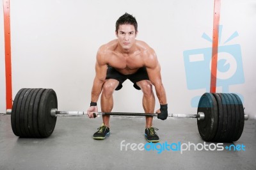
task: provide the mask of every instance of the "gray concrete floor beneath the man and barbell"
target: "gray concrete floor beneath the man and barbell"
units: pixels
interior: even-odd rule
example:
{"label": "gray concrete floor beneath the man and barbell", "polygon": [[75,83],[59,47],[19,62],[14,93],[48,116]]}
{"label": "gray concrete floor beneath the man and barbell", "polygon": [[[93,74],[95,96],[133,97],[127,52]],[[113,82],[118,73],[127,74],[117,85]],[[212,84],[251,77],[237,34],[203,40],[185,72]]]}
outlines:
{"label": "gray concrete floor beneath the man and barbell", "polygon": [[[124,140],[124,145],[147,144],[143,135],[145,118],[111,118],[111,135],[95,141],[92,134],[100,124],[101,118],[59,117],[47,139],[24,139],[13,134],[10,115],[0,114],[0,169],[256,169],[255,120],[245,122],[239,141],[222,145],[243,144],[245,151],[191,148],[183,153],[134,151],[131,147],[125,151],[125,146],[121,150]],[[194,119],[154,120],[154,126],[159,128],[159,144],[204,144]]]}

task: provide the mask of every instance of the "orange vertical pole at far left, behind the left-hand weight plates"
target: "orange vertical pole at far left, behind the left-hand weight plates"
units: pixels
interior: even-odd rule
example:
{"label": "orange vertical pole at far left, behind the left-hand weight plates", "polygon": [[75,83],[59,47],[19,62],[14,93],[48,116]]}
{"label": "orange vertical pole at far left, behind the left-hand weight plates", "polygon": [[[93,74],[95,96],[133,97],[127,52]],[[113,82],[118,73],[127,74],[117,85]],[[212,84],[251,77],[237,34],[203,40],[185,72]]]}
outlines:
{"label": "orange vertical pole at far left, behind the left-hand weight plates", "polygon": [[12,109],[12,61],[11,61],[10,0],[3,0],[3,8],[4,8],[6,109]]}

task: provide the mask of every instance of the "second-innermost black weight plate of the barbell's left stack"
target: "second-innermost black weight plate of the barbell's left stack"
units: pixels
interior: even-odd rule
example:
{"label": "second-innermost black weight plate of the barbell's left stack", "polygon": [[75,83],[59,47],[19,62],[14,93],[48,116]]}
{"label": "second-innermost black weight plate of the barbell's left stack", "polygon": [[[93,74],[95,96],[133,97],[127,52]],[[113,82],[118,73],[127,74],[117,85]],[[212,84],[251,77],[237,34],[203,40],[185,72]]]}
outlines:
{"label": "second-innermost black weight plate of the barbell's left stack", "polygon": [[42,137],[38,130],[38,107],[40,104],[40,98],[42,97],[42,94],[44,93],[44,91],[45,89],[40,89],[36,94],[34,108],[33,108],[33,128],[35,132],[35,137]]}

